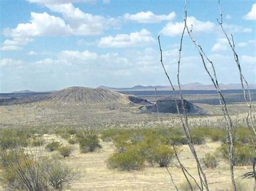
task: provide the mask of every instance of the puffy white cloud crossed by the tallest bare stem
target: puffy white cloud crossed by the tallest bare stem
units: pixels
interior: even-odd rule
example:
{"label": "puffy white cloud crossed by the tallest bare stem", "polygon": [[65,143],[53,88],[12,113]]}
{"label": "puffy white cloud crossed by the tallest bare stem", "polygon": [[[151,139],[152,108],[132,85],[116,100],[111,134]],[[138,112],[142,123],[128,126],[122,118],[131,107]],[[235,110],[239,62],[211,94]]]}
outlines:
{"label": "puffy white cloud crossed by the tallest bare stem", "polygon": [[[187,17],[187,26],[190,27],[193,25],[193,32],[199,33],[199,32],[213,32],[215,29],[215,24],[207,21],[207,22],[201,22],[200,20],[197,20],[195,17]],[[183,31],[184,23],[183,22],[170,22],[167,23],[164,28],[160,31],[161,34],[164,34],[166,36],[177,36],[180,35]]]}

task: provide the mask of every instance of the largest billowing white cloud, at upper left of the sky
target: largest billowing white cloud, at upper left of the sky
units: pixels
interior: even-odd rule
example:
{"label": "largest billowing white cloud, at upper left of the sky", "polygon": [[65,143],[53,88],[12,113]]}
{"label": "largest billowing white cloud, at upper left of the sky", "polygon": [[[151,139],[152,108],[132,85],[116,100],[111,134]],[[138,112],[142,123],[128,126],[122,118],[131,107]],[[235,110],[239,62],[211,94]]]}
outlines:
{"label": "largest billowing white cloud, at upper left of the sky", "polygon": [[70,3],[75,1],[30,0],[30,2],[41,3],[51,11],[61,13],[63,18],[46,12],[31,12],[28,23],[20,23],[15,29],[4,29],[6,36],[97,36],[104,30],[120,28],[119,19],[85,13]]}

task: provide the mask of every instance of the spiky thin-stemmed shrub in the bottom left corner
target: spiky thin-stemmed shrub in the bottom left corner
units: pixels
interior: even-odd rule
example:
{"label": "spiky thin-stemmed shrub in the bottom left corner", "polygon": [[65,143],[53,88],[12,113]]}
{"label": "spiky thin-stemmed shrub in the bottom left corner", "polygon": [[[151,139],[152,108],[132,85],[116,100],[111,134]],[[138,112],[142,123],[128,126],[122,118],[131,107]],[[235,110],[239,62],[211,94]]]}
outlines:
{"label": "spiky thin-stemmed shrub in the bottom left corner", "polygon": [[9,190],[45,190],[44,174],[41,171],[42,155],[25,153],[22,147],[2,150],[1,183]]}

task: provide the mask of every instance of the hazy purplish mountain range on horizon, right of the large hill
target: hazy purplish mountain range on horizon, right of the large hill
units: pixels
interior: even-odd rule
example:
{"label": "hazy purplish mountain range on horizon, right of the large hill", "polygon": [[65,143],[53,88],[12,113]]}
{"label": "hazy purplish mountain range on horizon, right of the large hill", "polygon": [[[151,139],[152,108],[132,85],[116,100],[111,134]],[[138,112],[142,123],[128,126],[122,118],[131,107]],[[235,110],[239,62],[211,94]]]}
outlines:
{"label": "hazy purplish mountain range on horizon, right of the large hill", "polygon": [[[233,89],[241,89],[241,84],[237,83],[229,83],[229,84],[219,84],[220,88],[223,90],[233,90]],[[170,86],[134,86],[132,88],[112,88],[107,86],[99,86],[98,88],[112,90],[112,91],[154,91],[154,88],[157,88],[158,91],[170,91]],[[174,86],[176,90],[178,90],[178,86]],[[250,89],[256,89],[256,84],[250,84]],[[214,90],[213,84],[201,84],[201,83],[187,83],[181,84],[182,90]]]}

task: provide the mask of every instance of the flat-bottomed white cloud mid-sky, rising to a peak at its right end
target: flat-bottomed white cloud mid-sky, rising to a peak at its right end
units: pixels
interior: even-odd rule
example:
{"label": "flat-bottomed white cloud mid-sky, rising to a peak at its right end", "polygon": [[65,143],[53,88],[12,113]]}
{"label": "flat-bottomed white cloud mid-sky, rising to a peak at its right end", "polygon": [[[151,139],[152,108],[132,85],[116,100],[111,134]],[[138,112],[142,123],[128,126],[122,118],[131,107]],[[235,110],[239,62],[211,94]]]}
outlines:
{"label": "flat-bottomed white cloud mid-sky, rising to a peak at its right end", "polygon": [[130,34],[117,34],[117,36],[103,37],[99,40],[99,47],[131,47],[131,46],[147,46],[155,43],[153,37],[146,29]]}

